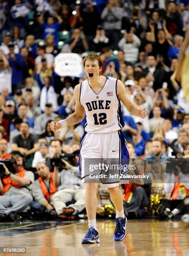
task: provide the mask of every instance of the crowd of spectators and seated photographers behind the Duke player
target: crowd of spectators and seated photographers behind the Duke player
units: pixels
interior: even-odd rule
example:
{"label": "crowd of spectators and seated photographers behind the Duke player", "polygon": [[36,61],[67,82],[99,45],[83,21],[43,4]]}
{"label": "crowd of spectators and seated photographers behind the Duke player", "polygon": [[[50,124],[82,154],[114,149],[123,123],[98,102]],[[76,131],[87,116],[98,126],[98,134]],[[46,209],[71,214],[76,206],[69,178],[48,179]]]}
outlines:
{"label": "crowd of spectators and seated photographers behind the Duke player", "polygon": [[[19,5],[29,12],[16,16]],[[1,177],[0,219],[17,219],[15,213],[29,205],[63,219],[85,208],[78,172],[85,120],[57,132],[50,130],[50,121],[73,113],[73,89],[87,77],[84,71],[81,77],[58,76],[54,58],[59,53],[84,58],[96,52],[103,75],[120,79],[131,100],[147,109],[141,119],[122,105],[131,158],[189,158],[189,103],[175,79],[188,27],[189,0],[0,0],[0,159],[14,155],[18,172],[5,167]],[[67,156],[64,167],[54,167],[52,159],[61,154],[72,156],[72,163]],[[174,187],[161,188],[166,200],[173,199]],[[149,184],[122,190],[127,214],[149,204]],[[136,195],[131,205],[130,192],[133,199]]]}

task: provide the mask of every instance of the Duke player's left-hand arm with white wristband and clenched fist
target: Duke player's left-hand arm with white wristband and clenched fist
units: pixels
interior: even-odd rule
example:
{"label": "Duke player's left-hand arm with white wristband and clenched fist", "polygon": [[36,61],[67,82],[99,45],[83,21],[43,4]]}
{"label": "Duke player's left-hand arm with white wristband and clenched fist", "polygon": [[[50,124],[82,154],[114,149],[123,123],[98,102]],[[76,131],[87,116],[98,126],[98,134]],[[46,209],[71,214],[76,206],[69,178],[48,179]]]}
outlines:
{"label": "Duke player's left-hand arm with white wristband and clenched fist", "polygon": [[76,101],[75,112],[73,114],[69,115],[64,120],[60,120],[59,122],[54,122],[54,121],[51,122],[50,123],[51,131],[57,131],[60,128],[64,128],[69,125],[75,125],[76,123],[79,123],[83,120],[85,110],[79,101],[79,95],[80,95],[80,84],[77,84],[76,87],[74,88],[74,92],[73,92],[73,96]]}

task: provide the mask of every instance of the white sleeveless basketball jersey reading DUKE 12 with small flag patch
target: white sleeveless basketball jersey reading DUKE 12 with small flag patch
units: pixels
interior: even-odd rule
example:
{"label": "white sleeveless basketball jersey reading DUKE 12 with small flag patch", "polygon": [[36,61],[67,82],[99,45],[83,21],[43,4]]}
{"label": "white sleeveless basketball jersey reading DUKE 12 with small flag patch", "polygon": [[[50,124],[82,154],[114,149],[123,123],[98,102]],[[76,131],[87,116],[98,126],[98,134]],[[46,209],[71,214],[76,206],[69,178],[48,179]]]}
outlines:
{"label": "white sleeveless basketball jersey reading DUKE 12 with small flag patch", "polygon": [[84,129],[88,133],[112,133],[124,126],[121,104],[117,96],[116,78],[106,77],[101,91],[96,94],[88,83],[81,83],[79,100],[86,113]]}

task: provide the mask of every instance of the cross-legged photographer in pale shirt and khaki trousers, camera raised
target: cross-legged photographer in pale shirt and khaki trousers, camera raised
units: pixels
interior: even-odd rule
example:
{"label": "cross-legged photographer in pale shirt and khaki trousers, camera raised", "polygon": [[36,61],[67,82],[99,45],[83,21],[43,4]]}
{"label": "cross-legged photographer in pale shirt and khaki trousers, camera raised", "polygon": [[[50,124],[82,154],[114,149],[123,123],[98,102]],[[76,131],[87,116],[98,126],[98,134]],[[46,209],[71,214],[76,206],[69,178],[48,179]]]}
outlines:
{"label": "cross-legged photographer in pale shirt and khaki trousers, camera raised", "polygon": [[[79,151],[74,151],[73,160],[61,159],[63,170],[58,174],[58,163],[54,166],[54,184],[58,186],[58,192],[53,195],[53,205],[57,215],[64,220],[73,220],[76,214],[85,208],[85,187],[81,185],[81,176],[79,174],[78,160]],[[67,158],[66,158],[67,159]],[[66,206],[67,202],[76,201]]]}

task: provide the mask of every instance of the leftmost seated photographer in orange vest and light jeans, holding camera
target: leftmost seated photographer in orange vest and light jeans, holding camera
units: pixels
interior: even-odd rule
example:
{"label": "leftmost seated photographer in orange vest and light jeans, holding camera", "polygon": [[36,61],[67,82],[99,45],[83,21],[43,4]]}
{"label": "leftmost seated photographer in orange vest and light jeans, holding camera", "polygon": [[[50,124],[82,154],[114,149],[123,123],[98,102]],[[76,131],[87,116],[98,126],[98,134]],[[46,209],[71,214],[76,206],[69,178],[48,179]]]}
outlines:
{"label": "leftmost seated photographer in orange vest and light jeans, holding camera", "polygon": [[[30,184],[34,182],[33,172],[24,169],[24,158],[19,154],[14,156],[15,174],[5,166],[1,168],[1,174],[4,174],[3,180],[0,180],[0,220],[9,216],[12,220],[19,220],[17,212],[22,212],[33,198],[30,195]],[[3,171],[2,171],[3,170]]]}

